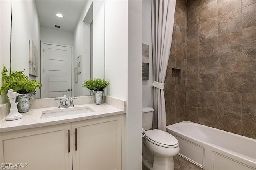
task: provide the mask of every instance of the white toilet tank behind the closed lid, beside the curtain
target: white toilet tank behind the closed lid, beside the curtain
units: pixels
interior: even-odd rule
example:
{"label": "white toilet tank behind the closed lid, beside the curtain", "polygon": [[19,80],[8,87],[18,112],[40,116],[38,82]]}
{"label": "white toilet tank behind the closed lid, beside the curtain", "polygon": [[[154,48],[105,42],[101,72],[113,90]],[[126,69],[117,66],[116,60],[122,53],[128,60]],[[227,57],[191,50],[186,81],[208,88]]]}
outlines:
{"label": "white toilet tank behind the closed lid, beside the curtain", "polygon": [[149,130],[153,125],[153,113],[152,107],[142,107],[142,128]]}

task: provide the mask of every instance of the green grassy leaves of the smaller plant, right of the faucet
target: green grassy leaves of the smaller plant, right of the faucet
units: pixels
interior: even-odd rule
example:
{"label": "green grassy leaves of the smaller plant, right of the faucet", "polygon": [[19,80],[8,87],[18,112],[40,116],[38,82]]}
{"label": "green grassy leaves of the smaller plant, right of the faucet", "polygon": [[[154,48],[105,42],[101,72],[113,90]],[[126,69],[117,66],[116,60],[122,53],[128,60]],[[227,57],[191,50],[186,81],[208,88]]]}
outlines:
{"label": "green grassy leaves of the smaller plant, right of the faucet", "polygon": [[89,90],[102,91],[109,84],[110,84],[110,81],[107,81],[105,79],[96,78],[96,79],[85,80],[84,83],[82,84],[82,87],[85,87]]}

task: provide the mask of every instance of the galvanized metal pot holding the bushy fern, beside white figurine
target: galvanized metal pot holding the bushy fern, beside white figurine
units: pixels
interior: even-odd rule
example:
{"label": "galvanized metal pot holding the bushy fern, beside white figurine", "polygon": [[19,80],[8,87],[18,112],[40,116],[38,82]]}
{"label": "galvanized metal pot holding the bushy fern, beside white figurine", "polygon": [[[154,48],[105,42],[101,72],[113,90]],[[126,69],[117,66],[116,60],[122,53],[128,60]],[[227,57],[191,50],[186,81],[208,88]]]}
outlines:
{"label": "galvanized metal pot holding the bushy fern, beside white figurine", "polygon": [[31,93],[28,93],[28,94],[22,94],[22,95],[16,97],[16,101],[19,102],[17,105],[17,108],[20,113],[29,111],[31,96],[32,96]]}

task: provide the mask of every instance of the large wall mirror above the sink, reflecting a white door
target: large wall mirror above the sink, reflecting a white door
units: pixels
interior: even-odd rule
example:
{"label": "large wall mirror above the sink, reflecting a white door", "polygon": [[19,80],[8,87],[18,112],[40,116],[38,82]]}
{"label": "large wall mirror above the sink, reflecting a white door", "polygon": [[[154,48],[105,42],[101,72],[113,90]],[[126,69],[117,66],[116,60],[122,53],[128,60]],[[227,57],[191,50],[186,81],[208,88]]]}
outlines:
{"label": "large wall mirror above the sink, reflecting a white door", "polygon": [[12,0],[11,70],[42,84],[35,98],[90,95],[83,81],[105,77],[104,28],[104,0]]}

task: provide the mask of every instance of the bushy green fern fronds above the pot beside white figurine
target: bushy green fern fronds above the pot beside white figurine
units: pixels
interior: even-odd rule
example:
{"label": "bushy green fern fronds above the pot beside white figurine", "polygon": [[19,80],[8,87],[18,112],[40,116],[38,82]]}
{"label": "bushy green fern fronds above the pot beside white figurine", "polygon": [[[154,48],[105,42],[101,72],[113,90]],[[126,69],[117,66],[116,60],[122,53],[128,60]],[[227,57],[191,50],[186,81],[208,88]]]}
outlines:
{"label": "bushy green fern fronds above the pot beside white figurine", "polygon": [[[24,71],[9,71],[5,66],[2,69],[2,79],[4,80],[4,85],[0,89],[0,94],[2,91],[7,93],[8,90],[13,89],[14,92],[20,94],[26,93],[36,93],[36,88],[42,86],[36,80],[30,80],[27,75],[24,74]],[[10,72],[10,75],[7,73]]]}

